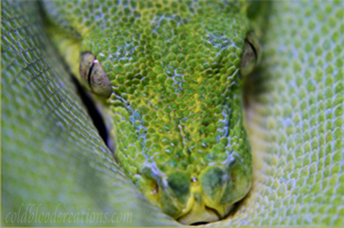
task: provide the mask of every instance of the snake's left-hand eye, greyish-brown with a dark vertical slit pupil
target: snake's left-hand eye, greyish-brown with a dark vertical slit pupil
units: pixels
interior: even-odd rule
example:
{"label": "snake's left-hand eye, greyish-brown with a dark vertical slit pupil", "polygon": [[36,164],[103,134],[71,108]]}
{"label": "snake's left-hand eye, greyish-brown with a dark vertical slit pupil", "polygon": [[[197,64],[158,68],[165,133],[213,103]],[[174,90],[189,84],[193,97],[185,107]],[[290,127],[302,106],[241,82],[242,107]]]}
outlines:
{"label": "snake's left-hand eye, greyish-brown with a dark vertical slit pupil", "polygon": [[112,87],[100,62],[91,52],[83,52],[80,58],[80,76],[83,85],[92,93],[102,97],[111,95]]}

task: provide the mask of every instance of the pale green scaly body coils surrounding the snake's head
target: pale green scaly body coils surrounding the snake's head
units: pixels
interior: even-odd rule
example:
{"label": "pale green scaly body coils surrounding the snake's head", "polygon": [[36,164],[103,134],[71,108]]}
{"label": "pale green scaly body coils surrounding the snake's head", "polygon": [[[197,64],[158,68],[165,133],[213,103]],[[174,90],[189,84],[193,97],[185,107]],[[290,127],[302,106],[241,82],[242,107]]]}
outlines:
{"label": "pale green scaly body coils surrounding the snake's head", "polygon": [[[233,215],[205,226],[344,227],[343,1],[268,3],[256,11],[270,17],[246,109],[252,187]],[[1,223],[180,225],[118,168],[56,54],[39,4],[1,1]],[[67,50],[69,61],[79,49]],[[89,219],[106,213],[107,220]]]}

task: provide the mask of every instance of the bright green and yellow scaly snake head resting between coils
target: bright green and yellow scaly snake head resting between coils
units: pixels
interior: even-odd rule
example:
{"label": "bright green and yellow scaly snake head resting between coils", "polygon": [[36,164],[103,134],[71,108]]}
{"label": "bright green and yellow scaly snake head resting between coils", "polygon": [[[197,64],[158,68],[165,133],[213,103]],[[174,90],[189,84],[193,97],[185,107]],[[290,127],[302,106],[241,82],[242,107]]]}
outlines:
{"label": "bright green and yellow scaly snake head resting between coils", "polygon": [[[76,51],[94,54],[107,73],[115,157],[145,196],[183,223],[228,214],[252,172],[239,73],[251,30],[244,5],[47,1],[45,8],[79,42]],[[68,62],[76,75],[79,61]]]}

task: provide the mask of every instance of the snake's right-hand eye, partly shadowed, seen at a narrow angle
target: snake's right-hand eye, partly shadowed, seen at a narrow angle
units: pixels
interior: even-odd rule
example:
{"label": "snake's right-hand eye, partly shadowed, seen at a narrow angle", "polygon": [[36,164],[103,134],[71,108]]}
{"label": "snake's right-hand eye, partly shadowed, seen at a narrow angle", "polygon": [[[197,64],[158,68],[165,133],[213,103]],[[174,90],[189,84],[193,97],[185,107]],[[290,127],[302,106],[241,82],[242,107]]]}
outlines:
{"label": "snake's right-hand eye, partly shadowed, seen at a narrow angle", "polygon": [[258,39],[252,32],[249,32],[241,56],[240,73],[242,77],[250,74],[258,65],[260,60],[260,46]]}

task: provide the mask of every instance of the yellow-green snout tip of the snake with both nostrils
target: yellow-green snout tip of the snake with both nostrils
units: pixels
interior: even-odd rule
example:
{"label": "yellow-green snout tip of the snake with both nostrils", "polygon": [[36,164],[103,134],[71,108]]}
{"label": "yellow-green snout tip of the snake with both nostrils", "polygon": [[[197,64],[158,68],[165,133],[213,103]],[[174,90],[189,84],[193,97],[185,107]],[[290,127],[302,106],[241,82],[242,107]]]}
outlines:
{"label": "yellow-green snout tip of the snake with both nostrils", "polygon": [[182,171],[164,176],[155,171],[146,166],[138,175],[138,186],[155,206],[184,224],[224,218],[250,189],[251,170],[239,159],[208,166],[197,179]]}

